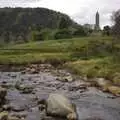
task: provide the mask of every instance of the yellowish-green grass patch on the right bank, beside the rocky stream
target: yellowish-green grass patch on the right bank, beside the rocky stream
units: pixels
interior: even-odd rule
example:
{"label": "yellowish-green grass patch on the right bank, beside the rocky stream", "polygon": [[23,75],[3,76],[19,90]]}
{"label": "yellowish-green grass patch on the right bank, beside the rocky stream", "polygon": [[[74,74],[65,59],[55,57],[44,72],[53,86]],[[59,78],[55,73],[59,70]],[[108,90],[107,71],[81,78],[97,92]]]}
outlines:
{"label": "yellowish-green grass patch on the right bank, beside the rocky stream", "polygon": [[65,66],[75,73],[88,78],[103,77],[113,80],[115,74],[120,72],[119,62],[115,63],[112,57],[78,60],[68,62]]}

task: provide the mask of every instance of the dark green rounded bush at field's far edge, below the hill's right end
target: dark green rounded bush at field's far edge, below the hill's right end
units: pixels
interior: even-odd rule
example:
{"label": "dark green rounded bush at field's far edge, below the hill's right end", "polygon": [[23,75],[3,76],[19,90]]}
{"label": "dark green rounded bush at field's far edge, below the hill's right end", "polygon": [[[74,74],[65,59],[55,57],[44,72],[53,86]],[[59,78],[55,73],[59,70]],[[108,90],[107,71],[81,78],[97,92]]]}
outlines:
{"label": "dark green rounded bush at field's far edge, below the hill's right end", "polygon": [[72,33],[70,30],[68,29],[62,29],[62,30],[58,30],[55,35],[54,35],[55,39],[65,39],[65,38],[72,38]]}

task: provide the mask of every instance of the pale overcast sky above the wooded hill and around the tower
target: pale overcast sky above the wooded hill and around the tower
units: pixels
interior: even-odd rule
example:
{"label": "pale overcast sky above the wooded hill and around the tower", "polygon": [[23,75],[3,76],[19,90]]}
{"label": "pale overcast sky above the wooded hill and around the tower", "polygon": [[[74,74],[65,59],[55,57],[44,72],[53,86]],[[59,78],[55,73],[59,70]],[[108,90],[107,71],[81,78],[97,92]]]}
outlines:
{"label": "pale overcast sky above the wooded hill and around the tower", "polygon": [[120,0],[0,0],[0,7],[45,7],[66,13],[80,24],[94,24],[98,10],[104,26],[111,24],[111,14],[120,9]]}

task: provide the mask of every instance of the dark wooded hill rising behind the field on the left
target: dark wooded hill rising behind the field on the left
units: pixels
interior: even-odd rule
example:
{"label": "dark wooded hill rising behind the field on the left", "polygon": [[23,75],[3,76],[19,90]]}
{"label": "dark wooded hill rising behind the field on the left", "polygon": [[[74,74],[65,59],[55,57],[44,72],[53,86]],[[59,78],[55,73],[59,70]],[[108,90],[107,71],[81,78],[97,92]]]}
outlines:
{"label": "dark wooded hill rising behind the field on the left", "polygon": [[32,30],[57,29],[62,18],[71,27],[77,25],[69,16],[46,8],[0,8],[0,40],[29,39]]}

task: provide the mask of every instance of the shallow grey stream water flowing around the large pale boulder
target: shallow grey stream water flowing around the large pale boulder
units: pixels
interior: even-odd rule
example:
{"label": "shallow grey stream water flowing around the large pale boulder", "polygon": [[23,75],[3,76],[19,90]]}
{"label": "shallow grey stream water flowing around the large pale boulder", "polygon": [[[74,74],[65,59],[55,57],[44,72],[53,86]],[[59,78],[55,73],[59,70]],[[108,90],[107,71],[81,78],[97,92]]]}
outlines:
{"label": "shallow grey stream water flowing around the large pale boulder", "polygon": [[[15,88],[17,81],[32,85],[33,92],[23,94]],[[81,81],[82,82],[82,81]],[[26,120],[40,120],[38,100],[50,93],[62,93],[77,106],[79,120],[120,120],[120,98],[103,93],[94,87],[87,90],[74,89],[76,82],[61,82],[50,72],[21,74],[21,72],[1,72],[0,84],[8,86],[7,102],[12,106],[11,115],[23,116]],[[71,89],[73,88],[73,89]]]}

